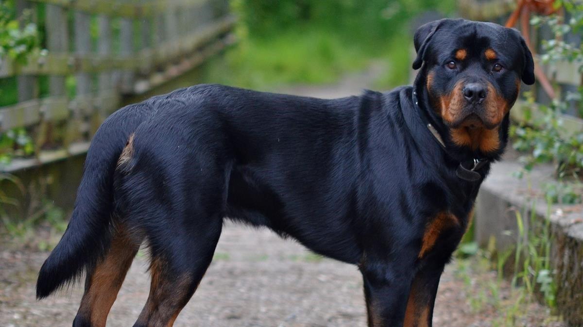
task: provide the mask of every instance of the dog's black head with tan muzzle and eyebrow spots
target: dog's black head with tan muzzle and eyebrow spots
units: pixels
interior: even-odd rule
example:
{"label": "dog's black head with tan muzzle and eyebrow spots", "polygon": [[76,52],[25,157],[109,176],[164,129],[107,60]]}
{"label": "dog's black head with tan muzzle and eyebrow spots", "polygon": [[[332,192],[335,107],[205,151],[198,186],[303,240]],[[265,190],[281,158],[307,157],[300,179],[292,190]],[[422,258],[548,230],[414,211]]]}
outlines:
{"label": "dog's black head with tan muzzle and eyebrow spots", "polygon": [[497,150],[498,141],[482,147],[475,135],[496,135],[521,80],[535,81],[532,54],[520,33],[493,23],[442,19],[419,27],[415,49],[413,68],[424,64],[430,106],[452,141],[483,152]]}

